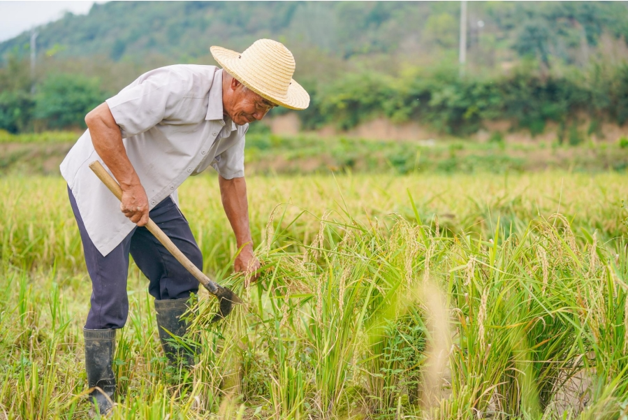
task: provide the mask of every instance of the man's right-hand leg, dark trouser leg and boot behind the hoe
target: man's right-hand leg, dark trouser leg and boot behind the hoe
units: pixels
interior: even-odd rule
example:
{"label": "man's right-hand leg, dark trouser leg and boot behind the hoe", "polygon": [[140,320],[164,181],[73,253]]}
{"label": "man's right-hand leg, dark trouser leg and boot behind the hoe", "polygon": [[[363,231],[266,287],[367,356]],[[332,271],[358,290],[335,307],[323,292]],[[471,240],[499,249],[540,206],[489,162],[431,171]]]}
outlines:
{"label": "man's right-hand leg, dark trouser leg and boot behind the hoe", "polygon": [[[150,217],[194,265],[203,268],[203,256],[189,224],[170,197],[156,205]],[[173,365],[193,364],[196,346],[189,340],[179,339],[187,332],[187,322],[182,315],[187,311],[190,294],[198,292],[198,280],[143,227],[131,238],[131,255],[149,279],[149,293],[155,298],[164,353]]]}

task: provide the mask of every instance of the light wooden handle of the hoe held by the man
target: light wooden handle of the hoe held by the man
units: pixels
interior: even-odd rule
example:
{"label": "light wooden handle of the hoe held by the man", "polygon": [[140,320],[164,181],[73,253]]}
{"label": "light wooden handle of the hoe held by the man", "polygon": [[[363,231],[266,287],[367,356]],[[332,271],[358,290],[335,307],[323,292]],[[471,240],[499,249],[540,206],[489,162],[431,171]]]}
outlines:
{"label": "light wooden handle of the hoe held by the man", "polygon": [[[94,171],[96,176],[100,178],[103,184],[107,186],[109,191],[111,191],[113,195],[118,198],[118,200],[122,201],[122,189],[120,188],[116,180],[113,179],[113,177],[109,175],[107,171],[105,171],[105,168],[101,165],[101,163],[99,161],[93,161],[91,164],[89,164],[89,168]],[[157,238],[157,240],[161,242],[161,245],[166,247],[166,249],[170,251],[170,254],[173,254],[177,261],[179,261],[182,266],[184,266],[191,273],[191,275],[196,277],[196,280],[198,280],[200,284],[203,284],[205,289],[210,291],[212,294],[216,294],[218,290],[218,285],[212,282],[212,280],[210,280],[210,278],[207,277],[205,274],[203,274],[203,272],[199,270],[198,267],[196,267],[192,263],[192,261],[190,261],[187,256],[185,256],[185,254],[180,251],[179,248],[177,248],[177,245],[175,245],[173,241],[170,240],[168,236],[166,236],[166,233],[163,233],[163,231],[159,228],[159,226],[155,224],[155,222],[153,222],[149,218],[148,223],[145,226],[146,229],[148,229],[150,233],[152,233],[155,238]]]}

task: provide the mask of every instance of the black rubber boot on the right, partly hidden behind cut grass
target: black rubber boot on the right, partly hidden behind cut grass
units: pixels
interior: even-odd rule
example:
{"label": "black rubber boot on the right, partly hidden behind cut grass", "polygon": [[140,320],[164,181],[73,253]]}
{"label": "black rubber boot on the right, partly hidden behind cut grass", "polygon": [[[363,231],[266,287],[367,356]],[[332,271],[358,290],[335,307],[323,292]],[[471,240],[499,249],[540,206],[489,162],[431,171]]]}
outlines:
{"label": "black rubber boot on the right, partly hidden behind cut grass", "polygon": [[187,332],[187,322],[181,319],[181,315],[188,310],[187,300],[155,300],[161,347],[170,364],[177,368],[189,368],[194,364],[194,355],[197,353],[196,346],[187,341],[185,344],[179,343],[173,338],[173,335],[182,338]]}

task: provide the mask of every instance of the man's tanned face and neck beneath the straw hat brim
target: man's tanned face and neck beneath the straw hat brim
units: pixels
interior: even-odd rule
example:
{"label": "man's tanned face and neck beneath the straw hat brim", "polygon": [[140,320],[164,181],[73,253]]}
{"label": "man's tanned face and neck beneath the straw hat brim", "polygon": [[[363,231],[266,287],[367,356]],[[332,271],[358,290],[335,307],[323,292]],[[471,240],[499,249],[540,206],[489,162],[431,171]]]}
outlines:
{"label": "man's tanned face and neck beneath the straw hat brim", "polygon": [[225,113],[238,125],[261,120],[276,105],[247,89],[235,78],[231,80],[230,100],[224,104]]}

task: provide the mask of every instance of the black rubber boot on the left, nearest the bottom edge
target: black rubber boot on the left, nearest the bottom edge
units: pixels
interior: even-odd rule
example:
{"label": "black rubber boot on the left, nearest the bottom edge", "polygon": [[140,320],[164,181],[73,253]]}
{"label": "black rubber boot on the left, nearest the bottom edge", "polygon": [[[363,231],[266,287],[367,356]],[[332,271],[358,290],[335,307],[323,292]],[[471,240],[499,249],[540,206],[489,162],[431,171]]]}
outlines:
{"label": "black rubber boot on the left, nearest the bottom edge", "polygon": [[[89,400],[94,410],[100,414],[108,414],[111,410],[115,393],[115,376],[112,363],[115,352],[115,330],[86,330],[85,337],[85,370],[89,388],[98,386],[102,391],[94,389],[89,393]],[[97,410],[96,410],[97,407]]]}

